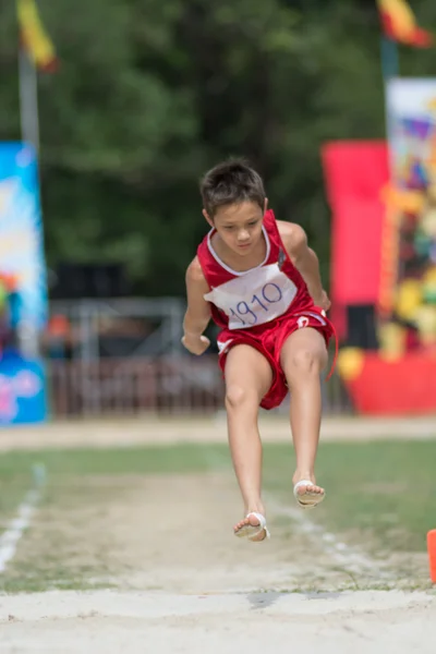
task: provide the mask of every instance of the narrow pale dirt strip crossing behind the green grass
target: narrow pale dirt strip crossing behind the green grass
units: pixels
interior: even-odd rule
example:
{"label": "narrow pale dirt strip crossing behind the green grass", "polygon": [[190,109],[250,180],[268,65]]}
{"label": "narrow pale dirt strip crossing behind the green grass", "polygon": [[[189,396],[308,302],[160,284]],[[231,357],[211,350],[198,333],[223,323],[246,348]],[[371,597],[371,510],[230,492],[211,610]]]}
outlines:
{"label": "narrow pale dirt strip crossing behind the green grass", "polygon": [[[265,441],[289,441],[288,417],[264,412],[261,434]],[[324,417],[322,440],[371,440],[376,438],[436,438],[436,415],[401,419]],[[181,441],[226,443],[226,416],[183,415],[87,419],[53,421],[45,425],[13,426],[0,429],[0,451],[41,447],[110,447]]]}

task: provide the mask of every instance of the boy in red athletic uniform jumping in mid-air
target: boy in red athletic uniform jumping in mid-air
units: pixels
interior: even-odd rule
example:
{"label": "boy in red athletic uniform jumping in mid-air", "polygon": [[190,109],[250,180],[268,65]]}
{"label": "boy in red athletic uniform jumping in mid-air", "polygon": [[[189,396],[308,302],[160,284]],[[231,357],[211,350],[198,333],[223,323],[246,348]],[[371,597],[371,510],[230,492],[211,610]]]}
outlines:
{"label": "boy in red athletic uniform jumping in mid-air", "polygon": [[324,497],[314,467],[319,438],[319,374],[334,332],[318,259],[303,229],[276,221],[261,177],[243,160],[219,164],[201,183],[211,230],[186,270],[183,346],[203,354],[210,318],[221,328],[219,364],[226,382],[229,444],[245,518],[237,536],[269,536],[261,496],[259,405],[278,407],[291,392],[296,455],[294,496],[302,508]]}

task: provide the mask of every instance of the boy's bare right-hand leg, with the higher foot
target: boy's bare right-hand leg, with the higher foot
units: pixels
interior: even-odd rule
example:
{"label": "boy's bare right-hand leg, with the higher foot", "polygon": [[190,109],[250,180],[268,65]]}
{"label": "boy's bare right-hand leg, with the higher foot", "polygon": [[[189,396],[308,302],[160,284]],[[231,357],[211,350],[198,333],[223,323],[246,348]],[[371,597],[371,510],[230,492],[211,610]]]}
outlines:
{"label": "boy's bare right-hand leg, with the higher foot", "polygon": [[327,364],[327,348],[323,336],[312,328],[294,331],[284,342],[280,362],[291,392],[291,429],[295,448],[294,484],[311,480],[313,485],[300,486],[299,495],[324,494],[316,485],[315,459],[319,441],[322,415],[320,372]]}

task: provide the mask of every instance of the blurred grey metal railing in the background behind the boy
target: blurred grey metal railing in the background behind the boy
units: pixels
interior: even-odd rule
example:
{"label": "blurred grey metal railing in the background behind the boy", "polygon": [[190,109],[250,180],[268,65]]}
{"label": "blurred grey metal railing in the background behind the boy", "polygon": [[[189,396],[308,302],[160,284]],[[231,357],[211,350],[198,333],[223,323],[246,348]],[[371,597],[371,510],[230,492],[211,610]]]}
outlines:
{"label": "blurred grey metal railing in the background behind the boy", "polygon": [[[217,354],[195,358],[181,346],[184,307],[184,301],[177,298],[51,302],[51,314],[65,316],[70,325],[68,358],[62,337],[61,358],[56,358],[56,342],[46,352],[52,415],[207,414],[222,410],[223,382]],[[132,322],[138,328],[130,341],[133,344],[125,348],[122,337],[129,337]],[[112,338],[105,328],[108,324],[114,328]],[[323,385],[323,400],[326,413],[352,412],[336,375]],[[288,402],[277,411],[287,412]]]}

